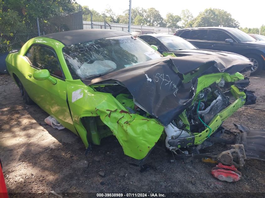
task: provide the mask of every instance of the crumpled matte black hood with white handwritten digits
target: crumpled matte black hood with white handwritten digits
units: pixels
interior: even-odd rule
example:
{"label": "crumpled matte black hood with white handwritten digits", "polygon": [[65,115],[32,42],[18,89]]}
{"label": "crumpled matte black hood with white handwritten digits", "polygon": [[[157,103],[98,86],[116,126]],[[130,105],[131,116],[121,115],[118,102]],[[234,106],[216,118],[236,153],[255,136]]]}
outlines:
{"label": "crumpled matte black hood with white handwritten digits", "polygon": [[[188,74],[205,64],[203,73],[187,83]],[[211,73],[236,73],[251,64],[250,61],[225,56],[185,56],[157,58],[104,76],[83,80],[86,85],[105,80],[117,80],[125,85],[135,99],[135,104],[156,117],[164,126],[172,122],[193,101],[199,76]],[[176,73],[176,69],[178,73]]]}

